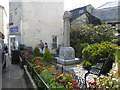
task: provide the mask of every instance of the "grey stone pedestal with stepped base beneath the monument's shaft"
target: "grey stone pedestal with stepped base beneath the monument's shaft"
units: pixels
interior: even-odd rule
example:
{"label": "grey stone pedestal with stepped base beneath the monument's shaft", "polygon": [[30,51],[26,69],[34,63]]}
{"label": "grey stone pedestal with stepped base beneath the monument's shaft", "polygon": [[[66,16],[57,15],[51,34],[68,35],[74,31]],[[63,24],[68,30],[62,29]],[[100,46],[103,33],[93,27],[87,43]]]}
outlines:
{"label": "grey stone pedestal with stepped base beneath the monument's shaft", "polygon": [[59,57],[56,57],[57,63],[62,65],[71,65],[80,63],[78,58],[75,58],[75,51],[72,47],[61,47]]}

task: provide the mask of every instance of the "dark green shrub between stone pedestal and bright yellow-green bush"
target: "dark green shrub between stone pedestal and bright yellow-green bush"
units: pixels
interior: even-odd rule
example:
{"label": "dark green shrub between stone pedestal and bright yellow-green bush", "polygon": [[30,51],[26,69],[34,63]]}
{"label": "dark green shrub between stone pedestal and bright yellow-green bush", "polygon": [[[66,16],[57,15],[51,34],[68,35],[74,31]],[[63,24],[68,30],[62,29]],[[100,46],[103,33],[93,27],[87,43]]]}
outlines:
{"label": "dark green shrub between stone pedestal and bright yellow-green bush", "polygon": [[82,50],[88,45],[88,43],[78,43],[77,45],[75,45],[74,49],[76,57],[82,58]]}

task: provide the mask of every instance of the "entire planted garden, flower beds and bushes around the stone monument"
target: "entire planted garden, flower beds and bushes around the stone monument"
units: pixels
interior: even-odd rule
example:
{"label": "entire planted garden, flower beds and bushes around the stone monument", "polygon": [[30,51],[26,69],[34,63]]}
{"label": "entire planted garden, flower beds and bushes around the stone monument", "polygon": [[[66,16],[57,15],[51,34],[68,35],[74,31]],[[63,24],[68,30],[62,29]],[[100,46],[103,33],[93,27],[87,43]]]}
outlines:
{"label": "entire planted garden, flower beds and bushes around the stone monument", "polygon": [[[100,59],[107,58],[111,53],[109,62],[94,81],[80,82],[75,75],[68,73],[69,71],[65,72],[64,68],[56,65],[55,57],[51,55],[49,49],[42,54],[37,46],[34,50],[20,46],[21,68],[26,65],[38,88],[109,88],[111,90],[120,88],[120,46],[114,42],[116,39],[114,31],[114,27],[105,24],[83,25],[72,28],[70,32],[71,46],[75,49],[76,57],[82,60],[81,65],[85,70],[101,63]],[[104,62],[102,60],[102,63]]]}

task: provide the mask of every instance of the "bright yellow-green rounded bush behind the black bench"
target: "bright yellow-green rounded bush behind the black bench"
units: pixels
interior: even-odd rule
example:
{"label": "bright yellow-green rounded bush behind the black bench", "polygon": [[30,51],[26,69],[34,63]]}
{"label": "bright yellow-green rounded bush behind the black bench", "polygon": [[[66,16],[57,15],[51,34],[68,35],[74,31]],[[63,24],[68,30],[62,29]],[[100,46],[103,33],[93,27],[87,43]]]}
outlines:
{"label": "bright yellow-green rounded bush behind the black bench", "polygon": [[[105,41],[101,44],[95,43],[85,47],[82,51],[82,57],[84,59],[84,62],[82,62],[83,67],[93,66],[97,64],[101,58],[107,58],[110,52],[114,53],[114,47],[116,46],[116,44]],[[109,57],[110,60],[115,60],[113,53]],[[90,64],[86,64],[86,62]]]}

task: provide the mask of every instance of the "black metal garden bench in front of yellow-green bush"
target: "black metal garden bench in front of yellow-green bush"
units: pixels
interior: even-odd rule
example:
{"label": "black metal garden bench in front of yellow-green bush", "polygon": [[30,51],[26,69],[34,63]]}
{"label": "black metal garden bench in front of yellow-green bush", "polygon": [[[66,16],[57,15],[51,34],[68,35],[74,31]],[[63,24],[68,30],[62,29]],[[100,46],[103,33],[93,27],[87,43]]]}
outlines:
{"label": "black metal garden bench in front of yellow-green bush", "polygon": [[90,67],[90,69],[88,70],[88,72],[85,74],[84,79],[85,79],[85,84],[87,85],[86,82],[86,77],[89,74],[94,74],[97,75],[98,77],[103,74],[103,75],[107,75],[107,73],[110,71],[110,69],[112,68],[112,64],[113,64],[113,60],[110,60],[109,57],[111,56],[111,53],[109,53],[107,58],[101,58],[99,60],[100,63],[97,63],[95,66]]}

